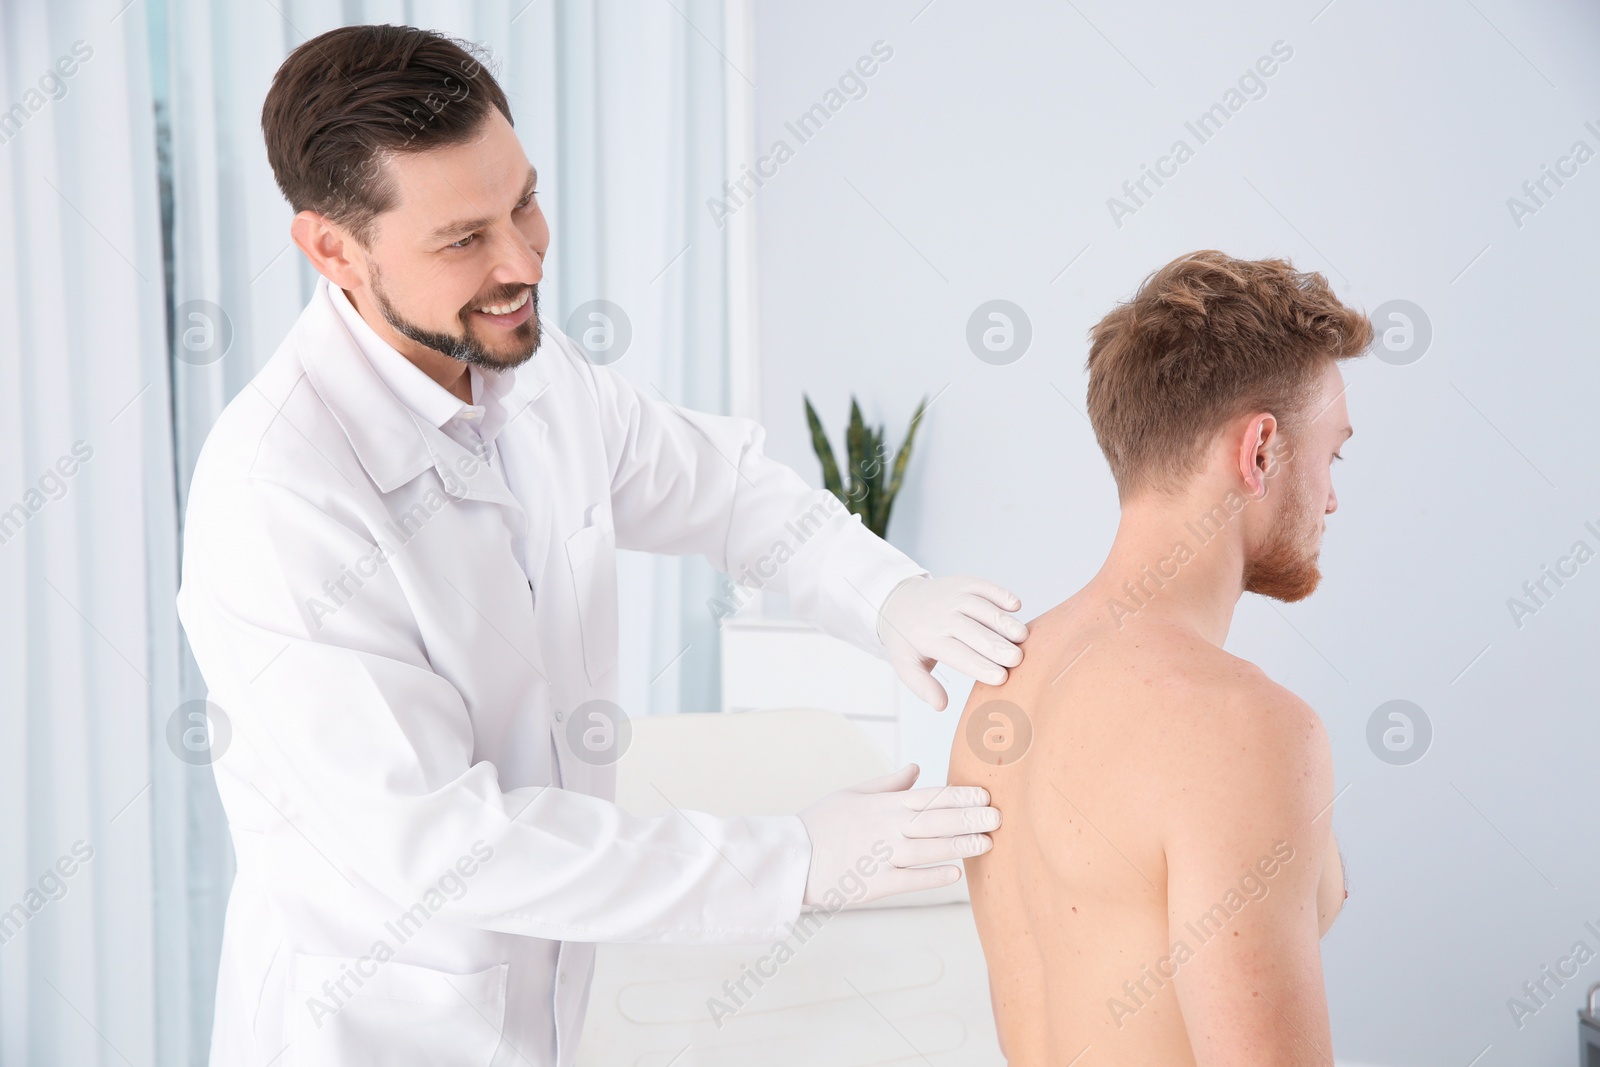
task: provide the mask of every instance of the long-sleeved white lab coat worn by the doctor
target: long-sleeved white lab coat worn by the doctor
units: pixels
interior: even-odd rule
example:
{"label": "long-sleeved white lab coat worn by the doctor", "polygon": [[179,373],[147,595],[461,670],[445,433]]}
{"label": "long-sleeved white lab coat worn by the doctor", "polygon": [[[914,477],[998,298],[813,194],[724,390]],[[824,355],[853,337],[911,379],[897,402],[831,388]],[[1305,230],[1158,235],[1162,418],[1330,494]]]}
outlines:
{"label": "long-sleeved white lab coat worn by the doctor", "polygon": [[178,609],[238,859],[213,1067],[568,1067],[595,942],[798,915],[797,816],[637,817],[573,752],[573,709],[618,694],[616,549],[770,573],[878,656],[877,608],[926,571],[755,422],[554,330],[515,379],[491,469],[389,392],[323,280],[202,450]]}

